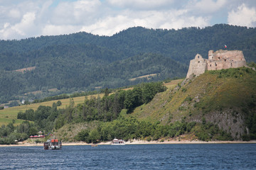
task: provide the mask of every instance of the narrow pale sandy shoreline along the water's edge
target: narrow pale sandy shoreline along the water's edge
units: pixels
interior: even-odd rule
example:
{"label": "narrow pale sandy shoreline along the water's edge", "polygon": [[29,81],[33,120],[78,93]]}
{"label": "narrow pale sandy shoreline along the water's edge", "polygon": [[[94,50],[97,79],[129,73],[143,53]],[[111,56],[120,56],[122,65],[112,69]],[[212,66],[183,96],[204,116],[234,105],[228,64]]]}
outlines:
{"label": "narrow pale sandy shoreline along the water's edge", "polygon": [[[201,141],[201,140],[169,140],[164,142],[159,141],[146,141],[146,140],[132,140],[125,142],[125,145],[179,145],[179,144],[256,144],[256,140],[250,141]],[[80,146],[80,145],[92,145],[92,143],[86,142],[63,142],[63,146]],[[111,145],[111,142],[100,142],[97,145]],[[43,143],[28,143],[28,142],[19,142],[17,145],[0,145],[0,147],[43,147]]]}

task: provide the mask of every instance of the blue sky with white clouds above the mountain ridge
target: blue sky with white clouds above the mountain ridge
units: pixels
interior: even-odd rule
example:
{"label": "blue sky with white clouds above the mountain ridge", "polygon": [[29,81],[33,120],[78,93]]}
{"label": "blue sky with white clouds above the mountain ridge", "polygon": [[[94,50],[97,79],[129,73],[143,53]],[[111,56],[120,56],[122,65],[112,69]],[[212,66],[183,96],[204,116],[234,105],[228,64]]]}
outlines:
{"label": "blue sky with white clouds above the mountain ridge", "polygon": [[255,0],[0,0],[0,40],[85,31],[111,36],[134,26],[256,27]]}

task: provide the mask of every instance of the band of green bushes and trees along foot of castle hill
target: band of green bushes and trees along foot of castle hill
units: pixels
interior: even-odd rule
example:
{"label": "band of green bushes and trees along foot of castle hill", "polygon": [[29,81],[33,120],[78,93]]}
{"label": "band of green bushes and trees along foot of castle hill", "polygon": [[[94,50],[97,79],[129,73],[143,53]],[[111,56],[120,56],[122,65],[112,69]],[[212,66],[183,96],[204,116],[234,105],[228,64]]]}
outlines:
{"label": "band of green bushes and trees along foot of castle hill", "polygon": [[161,125],[159,121],[149,123],[136,118],[124,118],[122,115],[112,122],[101,123],[97,128],[81,130],[74,139],[87,143],[108,142],[114,138],[122,138],[125,141],[134,139],[151,141],[163,140],[165,137],[180,137],[190,132],[193,132],[198,140],[203,141],[233,140],[229,133],[220,130],[218,125],[213,123],[188,123],[183,119]]}

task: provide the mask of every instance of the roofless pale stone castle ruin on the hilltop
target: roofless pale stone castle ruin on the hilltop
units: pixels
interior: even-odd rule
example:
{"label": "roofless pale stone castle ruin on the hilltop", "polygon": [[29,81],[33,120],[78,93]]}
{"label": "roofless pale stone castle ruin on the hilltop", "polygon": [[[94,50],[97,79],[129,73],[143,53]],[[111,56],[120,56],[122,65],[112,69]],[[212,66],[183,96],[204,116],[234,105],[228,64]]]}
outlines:
{"label": "roofless pale stone castle ruin on the hilltop", "polygon": [[186,78],[191,75],[198,76],[206,70],[229,69],[246,66],[245,57],[239,50],[218,50],[208,52],[208,60],[197,54],[195,59],[191,60]]}

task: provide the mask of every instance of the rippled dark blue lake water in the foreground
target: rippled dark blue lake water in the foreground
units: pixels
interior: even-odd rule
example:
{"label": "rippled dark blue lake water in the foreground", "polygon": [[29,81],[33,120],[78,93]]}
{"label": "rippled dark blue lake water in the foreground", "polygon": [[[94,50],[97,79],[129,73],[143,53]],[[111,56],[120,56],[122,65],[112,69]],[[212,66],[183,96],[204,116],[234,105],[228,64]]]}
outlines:
{"label": "rippled dark blue lake water in the foreground", "polygon": [[0,169],[256,169],[256,144],[0,147]]}

